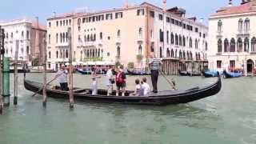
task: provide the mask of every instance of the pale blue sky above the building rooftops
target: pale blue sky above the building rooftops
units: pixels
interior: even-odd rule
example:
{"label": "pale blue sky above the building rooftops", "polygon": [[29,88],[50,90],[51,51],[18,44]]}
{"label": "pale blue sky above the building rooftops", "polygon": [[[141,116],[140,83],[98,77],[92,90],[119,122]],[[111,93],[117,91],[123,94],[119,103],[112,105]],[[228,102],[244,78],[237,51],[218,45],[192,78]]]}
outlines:
{"label": "pale blue sky above the building rooftops", "polygon": [[[89,11],[106,10],[122,7],[125,0],[2,0],[0,5],[0,20],[11,20],[14,18],[38,17],[42,24],[53,15],[72,12],[87,7]],[[162,0],[129,0],[130,4],[141,4],[150,2],[156,6],[162,6]],[[241,0],[234,0],[238,5]],[[227,6],[228,0],[167,0],[167,7],[178,6],[186,10],[186,17],[196,16],[204,18],[207,23],[210,14],[219,7]]]}

